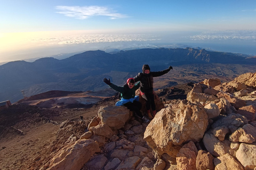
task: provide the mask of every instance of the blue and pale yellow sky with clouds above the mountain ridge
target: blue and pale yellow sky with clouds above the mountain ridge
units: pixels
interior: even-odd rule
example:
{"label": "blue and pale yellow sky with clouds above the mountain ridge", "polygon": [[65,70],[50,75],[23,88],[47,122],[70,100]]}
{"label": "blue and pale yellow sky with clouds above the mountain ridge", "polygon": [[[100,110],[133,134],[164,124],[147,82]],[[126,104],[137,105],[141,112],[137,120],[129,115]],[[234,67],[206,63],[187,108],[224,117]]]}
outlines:
{"label": "blue and pale yellow sky with clouds above the mountain ridge", "polygon": [[256,55],[256,1],[0,0],[0,63],[86,50]]}

